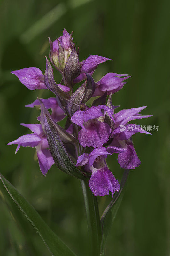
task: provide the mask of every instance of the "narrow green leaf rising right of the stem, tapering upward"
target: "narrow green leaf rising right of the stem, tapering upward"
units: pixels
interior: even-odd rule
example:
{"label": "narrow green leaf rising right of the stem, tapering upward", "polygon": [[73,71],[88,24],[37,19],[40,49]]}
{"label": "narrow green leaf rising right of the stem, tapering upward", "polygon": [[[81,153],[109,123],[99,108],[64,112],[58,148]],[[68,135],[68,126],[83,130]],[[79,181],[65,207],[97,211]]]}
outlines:
{"label": "narrow green leaf rising right of the stem, tapering upward", "polygon": [[122,190],[123,190],[125,182],[128,178],[128,174],[129,174],[129,170],[125,169],[125,171],[123,173],[123,176],[122,176],[121,183],[120,183],[120,190],[119,190],[119,192],[115,193],[115,195],[113,196],[112,201],[107,206],[107,208],[105,209],[105,211],[104,211],[104,213],[101,217],[102,242],[101,242],[101,254],[100,254],[100,256],[105,255],[105,244],[106,244],[107,236],[108,236],[108,233],[109,233],[109,231],[112,227],[113,221],[116,217],[116,214],[118,212],[120,203],[122,201],[123,194],[124,194],[124,193],[122,193]]}

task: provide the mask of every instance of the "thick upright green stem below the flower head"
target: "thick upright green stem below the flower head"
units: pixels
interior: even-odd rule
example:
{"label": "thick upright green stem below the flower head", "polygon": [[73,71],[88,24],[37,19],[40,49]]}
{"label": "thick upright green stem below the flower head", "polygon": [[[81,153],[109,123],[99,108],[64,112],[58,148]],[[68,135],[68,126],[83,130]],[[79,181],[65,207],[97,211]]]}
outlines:
{"label": "thick upright green stem below the flower head", "polygon": [[101,243],[101,224],[98,211],[97,197],[89,188],[89,179],[81,180],[84,203],[86,208],[87,225],[91,256],[99,256]]}

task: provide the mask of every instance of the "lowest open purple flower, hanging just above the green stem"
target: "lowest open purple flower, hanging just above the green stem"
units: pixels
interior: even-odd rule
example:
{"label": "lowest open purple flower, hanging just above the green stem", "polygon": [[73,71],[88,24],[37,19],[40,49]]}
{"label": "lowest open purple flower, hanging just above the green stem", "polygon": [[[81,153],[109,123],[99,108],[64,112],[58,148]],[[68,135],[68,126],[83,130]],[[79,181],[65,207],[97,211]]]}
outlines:
{"label": "lowest open purple flower, hanging just above the green stem", "polygon": [[85,165],[86,172],[91,172],[89,187],[95,196],[112,196],[115,191],[119,191],[120,185],[112,172],[106,165],[105,158],[113,153],[125,152],[125,149],[109,146],[108,148],[95,148],[90,154],[83,154],[78,157],[76,166]]}

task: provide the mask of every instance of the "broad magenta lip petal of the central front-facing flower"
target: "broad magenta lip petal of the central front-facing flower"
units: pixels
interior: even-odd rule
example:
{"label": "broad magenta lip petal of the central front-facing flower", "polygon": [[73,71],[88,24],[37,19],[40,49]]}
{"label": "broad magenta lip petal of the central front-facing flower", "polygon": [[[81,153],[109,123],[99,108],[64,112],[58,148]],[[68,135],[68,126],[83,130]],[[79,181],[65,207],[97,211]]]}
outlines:
{"label": "broad magenta lip petal of the central front-facing flower", "polygon": [[86,122],[84,125],[86,131],[81,129],[78,132],[78,139],[83,147],[102,147],[103,144],[109,140],[111,128],[108,124],[93,120]]}

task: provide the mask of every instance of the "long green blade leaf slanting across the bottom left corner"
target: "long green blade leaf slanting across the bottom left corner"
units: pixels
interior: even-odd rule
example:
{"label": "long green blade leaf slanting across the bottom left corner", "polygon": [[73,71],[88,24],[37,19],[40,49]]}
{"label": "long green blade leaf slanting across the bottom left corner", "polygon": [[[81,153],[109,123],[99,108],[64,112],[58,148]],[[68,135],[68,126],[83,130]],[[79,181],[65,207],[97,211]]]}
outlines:
{"label": "long green blade leaf slanting across the bottom left corner", "polygon": [[36,231],[42,237],[45,245],[53,256],[75,256],[75,254],[67,247],[67,245],[49,228],[41,216],[36,212],[34,207],[18,192],[12,184],[4,178],[0,173],[6,190],[18,205],[20,210],[25,214],[27,219],[32,223]]}

